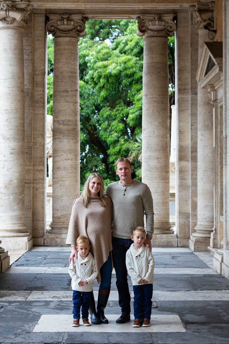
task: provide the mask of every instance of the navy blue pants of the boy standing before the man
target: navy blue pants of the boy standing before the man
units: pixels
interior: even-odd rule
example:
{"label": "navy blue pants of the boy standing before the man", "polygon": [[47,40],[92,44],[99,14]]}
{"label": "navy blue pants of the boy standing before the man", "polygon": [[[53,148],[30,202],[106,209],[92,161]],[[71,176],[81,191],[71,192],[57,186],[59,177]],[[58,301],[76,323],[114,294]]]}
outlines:
{"label": "navy blue pants of the boy standing before the man", "polygon": [[152,283],[133,286],[134,290],[134,319],[142,319],[142,305],[144,306],[144,318],[150,319],[152,310]]}

